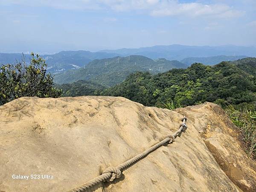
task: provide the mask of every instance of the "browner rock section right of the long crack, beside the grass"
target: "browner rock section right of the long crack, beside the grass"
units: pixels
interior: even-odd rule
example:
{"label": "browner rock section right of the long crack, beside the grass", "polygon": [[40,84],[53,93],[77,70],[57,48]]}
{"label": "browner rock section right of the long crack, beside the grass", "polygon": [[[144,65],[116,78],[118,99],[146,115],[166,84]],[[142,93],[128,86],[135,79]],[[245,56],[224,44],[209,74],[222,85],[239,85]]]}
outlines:
{"label": "browner rock section right of the long crack, beside the grass", "polygon": [[221,169],[243,191],[256,192],[256,162],[241,148],[235,125],[218,105],[204,103],[176,110],[192,120]]}

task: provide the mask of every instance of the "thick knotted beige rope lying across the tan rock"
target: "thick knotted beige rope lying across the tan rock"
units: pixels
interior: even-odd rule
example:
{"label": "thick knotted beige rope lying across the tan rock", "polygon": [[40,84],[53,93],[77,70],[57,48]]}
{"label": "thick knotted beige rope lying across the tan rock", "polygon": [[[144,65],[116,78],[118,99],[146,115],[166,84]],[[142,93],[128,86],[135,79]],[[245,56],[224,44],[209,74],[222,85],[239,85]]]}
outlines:
{"label": "thick knotted beige rope lying across the tan rock", "polygon": [[143,151],[141,154],[136,155],[135,157],[131,158],[128,161],[125,161],[124,163],[120,164],[117,167],[108,167],[107,169],[105,169],[105,171],[103,172],[102,175],[99,175],[98,177],[95,177],[94,179],[87,181],[86,183],[82,184],[81,186],[70,189],[67,192],[82,192],[100,182],[105,182],[105,181],[111,182],[111,181],[115,180],[116,178],[121,177],[123,169],[125,169],[126,167],[132,165],[133,163],[136,163],[137,161],[143,159],[148,154],[150,154],[152,151],[163,146],[165,143],[172,143],[172,141],[175,140],[175,138],[179,134],[181,134],[182,131],[185,131],[187,129],[186,116],[184,116],[182,118],[182,121],[183,121],[183,123],[180,124],[180,128],[174,134],[167,135],[164,140],[160,141],[159,143],[157,143],[157,144],[153,145],[152,147],[148,148],[147,150]]}

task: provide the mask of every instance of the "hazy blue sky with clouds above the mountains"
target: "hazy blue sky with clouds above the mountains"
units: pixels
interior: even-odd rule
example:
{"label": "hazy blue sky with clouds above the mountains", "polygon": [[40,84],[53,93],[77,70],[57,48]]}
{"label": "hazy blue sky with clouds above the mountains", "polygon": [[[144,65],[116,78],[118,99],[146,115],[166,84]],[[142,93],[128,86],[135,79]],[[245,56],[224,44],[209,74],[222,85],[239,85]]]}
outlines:
{"label": "hazy blue sky with clouds above the mountains", "polygon": [[0,52],[256,46],[256,0],[0,0]]}

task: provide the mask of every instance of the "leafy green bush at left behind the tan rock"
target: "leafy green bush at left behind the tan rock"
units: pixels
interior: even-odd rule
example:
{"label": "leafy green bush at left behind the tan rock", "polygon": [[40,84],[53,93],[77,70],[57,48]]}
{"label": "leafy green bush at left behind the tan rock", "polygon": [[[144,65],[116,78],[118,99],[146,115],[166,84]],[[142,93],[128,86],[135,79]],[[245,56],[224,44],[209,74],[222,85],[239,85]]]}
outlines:
{"label": "leafy green bush at left behind the tan rock", "polygon": [[24,96],[59,97],[62,91],[52,87],[53,78],[47,64],[31,53],[30,64],[25,60],[0,67],[0,105]]}

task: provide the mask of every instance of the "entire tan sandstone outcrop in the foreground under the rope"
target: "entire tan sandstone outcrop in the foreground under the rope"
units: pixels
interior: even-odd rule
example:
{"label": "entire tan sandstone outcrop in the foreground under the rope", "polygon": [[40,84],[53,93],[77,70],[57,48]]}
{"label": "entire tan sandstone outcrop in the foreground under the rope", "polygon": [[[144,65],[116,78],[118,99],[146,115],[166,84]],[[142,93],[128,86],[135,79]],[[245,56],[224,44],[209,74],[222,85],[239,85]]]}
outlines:
{"label": "entire tan sandstone outcrop in the foreground under the rope", "polygon": [[[59,192],[79,186],[174,133],[184,114],[188,129],[181,137],[92,191],[238,191],[233,182],[253,190],[255,163],[241,151],[233,124],[215,105],[169,111],[122,97],[83,96],[20,98],[0,106],[0,191]],[[204,139],[198,131],[205,132]]]}

